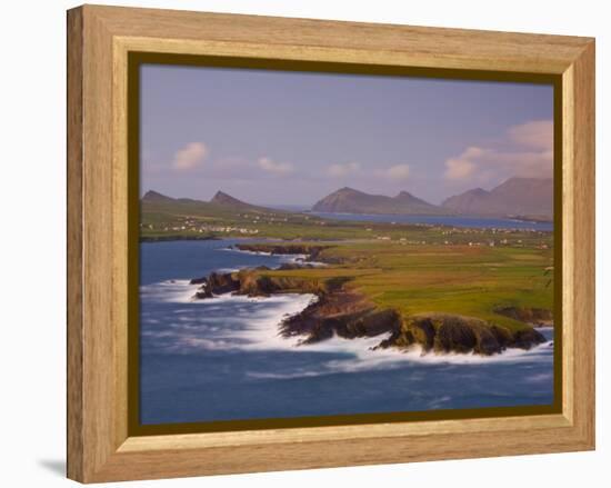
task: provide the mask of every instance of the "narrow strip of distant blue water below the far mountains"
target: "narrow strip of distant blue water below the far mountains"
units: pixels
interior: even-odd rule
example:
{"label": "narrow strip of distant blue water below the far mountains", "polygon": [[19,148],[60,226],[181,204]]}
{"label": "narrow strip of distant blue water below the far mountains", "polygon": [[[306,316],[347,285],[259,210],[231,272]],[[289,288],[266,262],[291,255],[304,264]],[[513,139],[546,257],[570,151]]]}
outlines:
{"label": "narrow strip of distant blue water below the far mountains", "polygon": [[311,212],[325,219],[357,220],[371,222],[425,223],[431,226],[477,227],[483,229],[520,229],[520,230],[553,230],[552,222],[530,222],[517,219],[498,219],[493,217],[463,216],[395,216],[363,213],[327,213]]}

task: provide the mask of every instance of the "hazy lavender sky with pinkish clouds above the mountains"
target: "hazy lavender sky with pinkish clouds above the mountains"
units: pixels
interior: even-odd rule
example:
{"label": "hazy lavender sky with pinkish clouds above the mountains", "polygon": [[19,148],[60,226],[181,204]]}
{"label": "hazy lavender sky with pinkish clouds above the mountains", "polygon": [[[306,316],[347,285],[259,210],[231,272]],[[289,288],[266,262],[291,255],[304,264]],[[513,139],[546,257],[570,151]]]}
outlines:
{"label": "hazy lavender sky with pinkish clouds above the mountains", "polygon": [[141,66],[140,191],[311,206],[351,187],[431,203],[550,178],[553,88]]}

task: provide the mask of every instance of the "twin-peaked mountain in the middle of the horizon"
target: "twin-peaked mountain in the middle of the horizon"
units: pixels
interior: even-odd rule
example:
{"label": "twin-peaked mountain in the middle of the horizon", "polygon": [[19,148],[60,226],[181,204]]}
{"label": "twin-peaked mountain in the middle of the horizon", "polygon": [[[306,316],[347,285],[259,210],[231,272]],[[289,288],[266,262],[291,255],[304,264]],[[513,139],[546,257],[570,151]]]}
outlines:
{"label": "twin-peaked mountain in the middle of the horizon", "polygon": [[407,191],[395,197],[370,195],[353,188],[341,188],[319,200],[315,212],[330,213],[395,213],[395,215],[442,215],[449,210],[428,203]]}

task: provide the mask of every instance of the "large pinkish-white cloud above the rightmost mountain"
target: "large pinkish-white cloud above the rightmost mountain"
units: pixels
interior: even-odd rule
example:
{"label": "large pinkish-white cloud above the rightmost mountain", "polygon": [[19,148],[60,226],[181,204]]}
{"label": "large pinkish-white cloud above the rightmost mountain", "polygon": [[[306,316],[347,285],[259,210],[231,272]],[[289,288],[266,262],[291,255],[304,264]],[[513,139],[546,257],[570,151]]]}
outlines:
{"label": "large pinkish-white cloud above the rightmost mountain", "polygon": [[448,180],[508,177],[550,178],[553,170],[553,122],[535,120],[510,127],[502,139],[471,146],[445,161]]}

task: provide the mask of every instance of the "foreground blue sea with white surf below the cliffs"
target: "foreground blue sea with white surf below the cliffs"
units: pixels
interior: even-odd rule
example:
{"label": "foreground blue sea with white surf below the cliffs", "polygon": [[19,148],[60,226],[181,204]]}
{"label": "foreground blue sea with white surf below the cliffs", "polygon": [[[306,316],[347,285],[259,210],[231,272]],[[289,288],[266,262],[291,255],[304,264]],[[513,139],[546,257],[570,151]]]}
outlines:
{"label": "foreground blue sea with white surf below the cliffs", "polygon": [[278,335],[308,295],[191,300],[189,279],[294,257],[227,250],[232,240],[140,248],[140,420],[144,425],[415,411],[553,401],[553,331],[491,358],[370,350],[383,337],[297,346]]}

